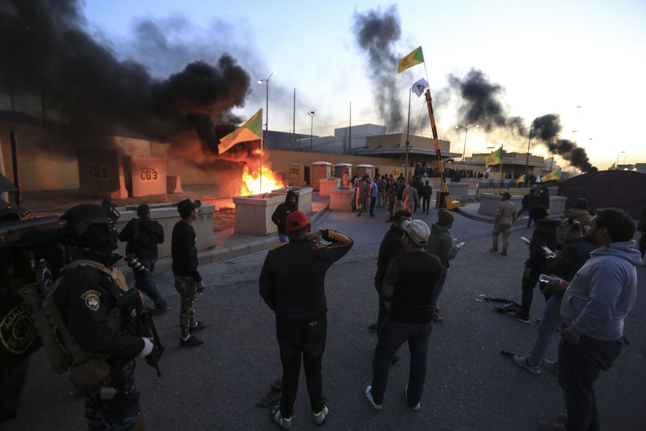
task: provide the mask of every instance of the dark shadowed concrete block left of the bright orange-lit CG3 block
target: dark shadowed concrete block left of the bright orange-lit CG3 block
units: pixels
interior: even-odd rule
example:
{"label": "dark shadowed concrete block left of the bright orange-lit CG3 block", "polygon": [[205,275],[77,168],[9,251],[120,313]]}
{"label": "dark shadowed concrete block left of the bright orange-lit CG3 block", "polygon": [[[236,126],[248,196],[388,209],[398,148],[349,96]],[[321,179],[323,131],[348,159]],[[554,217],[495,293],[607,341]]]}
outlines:
{"label": "dark shadowed concrete block left of the bright orange-lit CG3 block", "polygon": [[128,197],[120,149],[79,149],[79,195],[123,199]]}

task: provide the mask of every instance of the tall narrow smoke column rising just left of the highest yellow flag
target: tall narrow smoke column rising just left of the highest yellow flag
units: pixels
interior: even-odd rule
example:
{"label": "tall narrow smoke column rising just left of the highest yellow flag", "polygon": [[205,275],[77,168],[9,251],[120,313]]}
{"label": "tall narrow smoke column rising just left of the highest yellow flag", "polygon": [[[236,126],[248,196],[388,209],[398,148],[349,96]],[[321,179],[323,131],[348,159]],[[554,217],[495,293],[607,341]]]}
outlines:
{"label": "tall narrow smoke column rising just left of the highest yellow flag", "polygon": [[401,113],[398,87],[395,42],[401,37],[401,23],[397,6],[393,5],[384,12],[380,8],[365,14],[355,13],[353,32],[357,43],[368,51],[370,60],[373,93],[379,116],[390,130],[402,127],[404,117]]}

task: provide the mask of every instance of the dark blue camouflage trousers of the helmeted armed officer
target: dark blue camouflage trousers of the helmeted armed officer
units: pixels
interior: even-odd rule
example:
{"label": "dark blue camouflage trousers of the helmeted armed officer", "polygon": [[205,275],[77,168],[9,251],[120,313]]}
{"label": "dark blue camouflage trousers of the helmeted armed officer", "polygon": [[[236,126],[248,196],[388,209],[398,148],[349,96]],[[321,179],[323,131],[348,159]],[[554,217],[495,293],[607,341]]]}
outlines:
{"label": "dark blue camouflage trousers of the helmeted armed officer", "polygon": [[[76,386],[85,396],[85,417],[89,430],[125,431],[143,423],[139,391],[134,385],[134,360],[119,369],[112,369],[104,381],[91,388]],[[140,422],[141,420],[141,422]]]}

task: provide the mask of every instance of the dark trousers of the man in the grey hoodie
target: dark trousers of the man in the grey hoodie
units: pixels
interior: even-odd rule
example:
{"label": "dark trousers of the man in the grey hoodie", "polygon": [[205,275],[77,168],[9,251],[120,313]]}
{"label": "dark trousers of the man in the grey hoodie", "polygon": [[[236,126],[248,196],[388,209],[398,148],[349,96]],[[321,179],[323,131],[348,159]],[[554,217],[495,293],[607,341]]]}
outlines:
{"label": "dark trousers of the man in the grey hoodie", "polygon": [[559,385],[567,408],[565,427],[568,430],[600,429],[594,382],[599,377],[599,371],[610,370],[623,343],[623,337],[616,341],[602,341],[583,335],[578,343],[561,338]]}

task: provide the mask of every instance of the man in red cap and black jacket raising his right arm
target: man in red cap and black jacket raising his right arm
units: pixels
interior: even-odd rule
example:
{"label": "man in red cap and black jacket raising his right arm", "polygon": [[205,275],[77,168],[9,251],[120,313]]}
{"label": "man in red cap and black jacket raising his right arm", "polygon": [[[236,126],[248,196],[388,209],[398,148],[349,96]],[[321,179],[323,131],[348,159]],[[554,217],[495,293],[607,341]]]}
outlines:
{"label": "man in red cap and black jacket raising his right arm", "polygon": [[[300,211],[289,214],[286,228],[289,243],[269,250],[259,284],[260,296],[276,315],[283,368],[282,398],[271,416],[287,430],[291,427],[301,357],[315,423],[322,424],[328,415],[321,377],[328,331],[325,274],[345,256],[353,242],[334,230],[311,233],[309,219]],[[320,245],[321,239],[331,244]]]}

